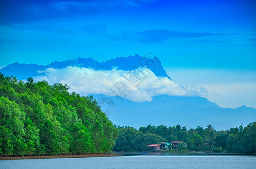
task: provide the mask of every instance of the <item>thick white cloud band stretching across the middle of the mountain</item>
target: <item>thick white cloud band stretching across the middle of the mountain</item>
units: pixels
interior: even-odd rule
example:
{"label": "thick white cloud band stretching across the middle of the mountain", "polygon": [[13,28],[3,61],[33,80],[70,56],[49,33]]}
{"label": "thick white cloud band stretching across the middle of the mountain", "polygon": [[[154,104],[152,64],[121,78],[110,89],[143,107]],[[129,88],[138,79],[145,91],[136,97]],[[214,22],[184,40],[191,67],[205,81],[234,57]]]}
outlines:
{"label": "thick white cloud band stretching across the middle of the mountain", "polygon": [[[48,68],[37,81],[48,81],[50,84],[63,83],[71,87],[71,91],[82,95],[104,94],[120,95],[126,99],[142,102],[151,101],[152,96],[207,96],[208,92],[202,87],[183,88],[167,77],[156,77],[150,69],[139,68],[134,72],[124,70],[93,70],[68,66],[64,69]],[[138,85],[136,85],[138,84]],[[120,90],[122,89],[122,90]],[[125,96],[126,95],[126,96]]]}

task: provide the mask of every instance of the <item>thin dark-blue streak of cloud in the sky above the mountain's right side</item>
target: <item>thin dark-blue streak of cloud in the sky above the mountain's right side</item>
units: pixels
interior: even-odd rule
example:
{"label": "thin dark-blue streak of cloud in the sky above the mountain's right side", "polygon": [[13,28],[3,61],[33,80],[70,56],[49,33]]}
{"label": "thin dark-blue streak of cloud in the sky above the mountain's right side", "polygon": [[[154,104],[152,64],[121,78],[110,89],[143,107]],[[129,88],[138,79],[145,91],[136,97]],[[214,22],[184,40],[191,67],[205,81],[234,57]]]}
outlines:
{"label": "thin dark-blue streak of cloud in the sky above the mountain's right side", "polygon": [[185,32],[173,30],[145,30],[140,32],[126,31],[111,38],[120,41],[142,42],[142,43],[163,43],[168,39],[186,39],[200,38],[216,35],[231,35],[231,34],[212,34],[208,32]]}

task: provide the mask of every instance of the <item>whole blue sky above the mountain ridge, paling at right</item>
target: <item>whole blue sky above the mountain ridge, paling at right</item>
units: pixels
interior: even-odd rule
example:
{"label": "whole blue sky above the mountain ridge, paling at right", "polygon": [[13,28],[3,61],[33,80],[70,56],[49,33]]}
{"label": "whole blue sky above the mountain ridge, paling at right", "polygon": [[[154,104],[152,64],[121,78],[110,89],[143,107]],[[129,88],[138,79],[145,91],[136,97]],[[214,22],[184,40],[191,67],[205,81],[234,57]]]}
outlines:
{"label": "whole blue sky above the mountain ridge, paling at right", "polygon": [[256,1],[0,1],[0,68],[150,51],[181,86],[256,108]]}

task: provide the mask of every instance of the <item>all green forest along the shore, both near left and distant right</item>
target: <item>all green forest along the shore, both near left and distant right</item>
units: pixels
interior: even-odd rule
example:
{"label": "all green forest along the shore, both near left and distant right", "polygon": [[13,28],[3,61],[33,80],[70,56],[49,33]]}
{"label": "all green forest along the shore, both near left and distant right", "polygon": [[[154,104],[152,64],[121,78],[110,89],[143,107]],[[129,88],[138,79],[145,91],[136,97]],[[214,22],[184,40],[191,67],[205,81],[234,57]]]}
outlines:
{"label": "all green forest along the shore, both near left and distant right", "polygon": [[256,153],[256,122],[216,131],[176,125],[120,127],[92,96],[69,92],[66,84],[27,82],[0,73],[0,155],[58,155],[147,151],[147,145],[184,141],[176,151]]}

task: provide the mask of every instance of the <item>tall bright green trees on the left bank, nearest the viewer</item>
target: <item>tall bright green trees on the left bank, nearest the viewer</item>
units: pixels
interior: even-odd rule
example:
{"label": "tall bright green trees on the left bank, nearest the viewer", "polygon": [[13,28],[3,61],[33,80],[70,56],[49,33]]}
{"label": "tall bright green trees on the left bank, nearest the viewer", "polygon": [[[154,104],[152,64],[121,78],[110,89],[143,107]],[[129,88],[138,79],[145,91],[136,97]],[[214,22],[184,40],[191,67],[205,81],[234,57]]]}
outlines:
{"label": "tall bright green trees on the left bank, nearest the viewer", "polygon": [[66,84],[0,73],[0,155],[109,152],[117,128],[92,96],[67,90]]}

